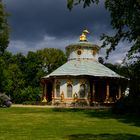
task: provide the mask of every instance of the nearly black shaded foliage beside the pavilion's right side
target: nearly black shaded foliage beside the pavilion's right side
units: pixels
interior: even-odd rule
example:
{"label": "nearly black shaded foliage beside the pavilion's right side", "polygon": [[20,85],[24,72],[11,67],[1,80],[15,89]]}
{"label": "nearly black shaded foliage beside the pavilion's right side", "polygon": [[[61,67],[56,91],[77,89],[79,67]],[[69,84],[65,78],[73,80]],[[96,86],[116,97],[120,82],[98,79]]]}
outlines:
{"label": "nearly black shaded foliage beside the pavilion's right side", "polygon": [[[128,77],[129,95],[116,102],[112,108],[115,114],[139,114],[140,115],[140,60],[131,65],[125,65],[118,68],[118,72]],[[124,83],[121,83],[124,85]]]}

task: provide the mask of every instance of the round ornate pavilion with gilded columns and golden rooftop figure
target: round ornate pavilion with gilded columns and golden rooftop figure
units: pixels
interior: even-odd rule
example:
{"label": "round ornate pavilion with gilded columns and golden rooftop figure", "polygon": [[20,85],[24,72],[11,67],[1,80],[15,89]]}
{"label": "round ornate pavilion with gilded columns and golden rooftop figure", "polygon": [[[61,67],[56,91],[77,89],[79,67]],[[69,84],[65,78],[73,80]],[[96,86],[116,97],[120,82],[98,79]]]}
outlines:
{"label": "round ornate pavilion with gilded columns and golden rooftop figure", "polygon": [[68,61],[42,78],[44,102],[106,104],[123,95],[120,80],[126,79],[98,62],[100,47],[87,41],[87,33],[66,47]]}

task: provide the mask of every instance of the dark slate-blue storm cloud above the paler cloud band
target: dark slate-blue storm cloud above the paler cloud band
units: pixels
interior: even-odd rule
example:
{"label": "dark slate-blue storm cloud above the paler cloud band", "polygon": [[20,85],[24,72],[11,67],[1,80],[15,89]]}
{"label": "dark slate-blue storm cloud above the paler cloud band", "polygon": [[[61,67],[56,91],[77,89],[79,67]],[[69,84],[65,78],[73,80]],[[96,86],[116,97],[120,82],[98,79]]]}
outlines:
{"label": "dark slate-blue storm cloud above the paler cloud band", "polygon": [[83,10],[76,6],[72,11],[66,7],[66,0],[6,0],[11,14],[11,39],[39,41],[45,35],[56,38],[79,36],[88,28],[94,36],[109,31],[109,16],[103,3]]}

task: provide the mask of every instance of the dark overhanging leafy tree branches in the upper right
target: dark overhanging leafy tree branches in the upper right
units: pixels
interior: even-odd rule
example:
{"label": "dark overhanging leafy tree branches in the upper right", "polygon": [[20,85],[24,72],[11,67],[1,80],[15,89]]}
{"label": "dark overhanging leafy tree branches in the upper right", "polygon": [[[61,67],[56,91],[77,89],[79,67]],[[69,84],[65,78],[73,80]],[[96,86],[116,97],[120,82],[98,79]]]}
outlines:
{"label": "dark overhanging leafy tree branches in the upper right", "polygon": [[[99,0],[67,0],[67,6],[72,9],[73,5],[83,2],[83,7],[98,3]],[[112,36],[103,34],[102,47],[106,50],[107,57],[112,50],[115,50],[118,43],[127,40],[133,43],[128,51],[128,57],[140,53],[140,0],[105,0],[105,8],[110,12],[111,25],[115,31]],[[137,55],[137,57],[139,57]]]}

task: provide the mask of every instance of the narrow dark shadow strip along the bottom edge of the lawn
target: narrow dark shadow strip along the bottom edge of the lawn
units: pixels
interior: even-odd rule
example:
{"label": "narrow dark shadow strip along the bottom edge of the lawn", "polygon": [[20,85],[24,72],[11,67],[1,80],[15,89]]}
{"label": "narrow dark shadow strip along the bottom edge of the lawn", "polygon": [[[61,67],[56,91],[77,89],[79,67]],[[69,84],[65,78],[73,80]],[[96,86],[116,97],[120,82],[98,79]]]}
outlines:
{"label": "narrow dark shadow strip along the bottom edge of the lawn", "polygon": [[140,140],[140,136],[130,134],[74,134],[68,140]]}

